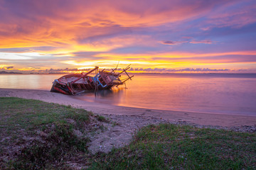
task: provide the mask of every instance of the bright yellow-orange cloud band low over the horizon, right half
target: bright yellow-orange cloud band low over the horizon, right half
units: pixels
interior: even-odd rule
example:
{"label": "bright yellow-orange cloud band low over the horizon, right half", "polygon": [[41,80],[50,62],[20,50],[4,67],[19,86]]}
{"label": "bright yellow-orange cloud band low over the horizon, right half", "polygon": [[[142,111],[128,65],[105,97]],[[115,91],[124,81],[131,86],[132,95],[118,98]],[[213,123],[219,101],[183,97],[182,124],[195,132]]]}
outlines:
{"label": "bright yellow-orange cloud band low over the horizon, right half", "polygon": [[[102,53],[97,57],[110,57],[112,59],[127,60],[133,62],[135,67],[146,67],[150,65],[152,68],[166,67],[191,67],[196,65],[218,65],[228,63],[256,63],[256,51],[250,52],[219,52],[219,53],[189,53],[189,52],[170,52],[160,54],[107,54]],[[139,59],[139,60],[133,60]],[[142,63],[143,62],[144,66]]]}

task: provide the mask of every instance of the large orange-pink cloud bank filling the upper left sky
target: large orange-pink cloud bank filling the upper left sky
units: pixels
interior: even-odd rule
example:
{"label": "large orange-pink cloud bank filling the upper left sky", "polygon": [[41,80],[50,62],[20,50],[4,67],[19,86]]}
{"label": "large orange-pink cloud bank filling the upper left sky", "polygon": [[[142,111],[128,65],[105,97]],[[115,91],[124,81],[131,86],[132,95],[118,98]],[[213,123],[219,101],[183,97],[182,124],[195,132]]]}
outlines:
{"label": "large orange-pink cloud bank filling the upper left sky", "polygon": [[[45,45],[66,48],[85,38],[184,21],[209,11],[216,4],[183,1],[26,2],[2,3],[1,48]],[[154,8],[151,8],[152,3]],[[93,50],[91,46],[86,47]],[[95,50],[105,51],[106,47]]]}

